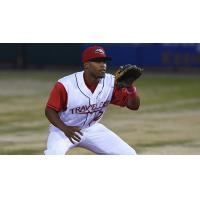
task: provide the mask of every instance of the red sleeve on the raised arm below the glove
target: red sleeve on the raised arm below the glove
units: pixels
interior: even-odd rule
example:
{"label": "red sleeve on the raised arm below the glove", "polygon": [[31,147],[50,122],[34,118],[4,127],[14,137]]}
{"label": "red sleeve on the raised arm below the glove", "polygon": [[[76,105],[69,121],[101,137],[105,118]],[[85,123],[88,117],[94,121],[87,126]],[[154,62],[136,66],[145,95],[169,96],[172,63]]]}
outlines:
{"label": "red sleeve on the raised arm below the glove", "polygon": [[115,86],[111,104],[125,107],[127,106],[128,97],[135,98],[136,96],[136,87],[118,88]]}

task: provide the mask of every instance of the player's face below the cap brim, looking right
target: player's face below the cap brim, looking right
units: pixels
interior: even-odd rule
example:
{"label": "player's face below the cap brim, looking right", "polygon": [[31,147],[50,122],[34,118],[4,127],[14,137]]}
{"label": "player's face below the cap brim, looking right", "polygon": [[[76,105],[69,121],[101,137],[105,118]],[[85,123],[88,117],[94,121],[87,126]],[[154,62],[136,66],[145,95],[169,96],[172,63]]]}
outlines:
{"label": "player's face below the cap brim, looking right", "polygon": [[91,76],[94,78],[104,78],[105,73],[106,73],[106,62],[103,60],[97,60],[97,61],[90,61],[88,62],[88,72],[90,73]]}

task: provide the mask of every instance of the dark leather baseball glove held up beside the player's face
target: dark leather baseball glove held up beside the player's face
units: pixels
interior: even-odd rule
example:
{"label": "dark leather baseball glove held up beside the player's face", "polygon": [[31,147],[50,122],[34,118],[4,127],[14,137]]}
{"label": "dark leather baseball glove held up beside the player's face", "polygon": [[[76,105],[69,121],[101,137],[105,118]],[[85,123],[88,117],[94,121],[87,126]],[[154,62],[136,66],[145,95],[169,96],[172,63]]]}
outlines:
{"label": "dark leather baseball glove held up beside the player's face", "polygon": [[143,69],[136,65],[123,65],[115,72],[115,84],[118,87],[130,87],[142,75]]}

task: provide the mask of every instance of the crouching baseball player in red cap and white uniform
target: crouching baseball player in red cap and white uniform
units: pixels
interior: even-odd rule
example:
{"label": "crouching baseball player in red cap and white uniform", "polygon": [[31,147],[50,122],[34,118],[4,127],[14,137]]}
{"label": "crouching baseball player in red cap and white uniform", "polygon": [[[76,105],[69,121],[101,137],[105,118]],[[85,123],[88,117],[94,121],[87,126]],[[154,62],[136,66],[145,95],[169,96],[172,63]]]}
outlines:
{"label": "crouching baseball player in red cap and white uniform", "polygon": [[138,110],[140,106],[132,82],[117,84],[123,67],[116,76],[106,73],[108,60],[111,58],[102,47],[86,48],[82,53],[84,70],[61,78],[55,84],[45,108],[50,121],[46,155],[64,155],[74,147],[104,155],[136,154],[132,147],[99,123],[110,103],[131,110]]}

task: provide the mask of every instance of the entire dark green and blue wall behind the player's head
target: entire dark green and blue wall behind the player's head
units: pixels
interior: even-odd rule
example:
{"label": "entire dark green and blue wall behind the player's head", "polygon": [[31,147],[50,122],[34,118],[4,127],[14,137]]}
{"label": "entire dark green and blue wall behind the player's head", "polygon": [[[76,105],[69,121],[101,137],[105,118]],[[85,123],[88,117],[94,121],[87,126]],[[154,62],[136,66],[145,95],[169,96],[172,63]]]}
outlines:
{"label": "entire dark green and blue wall behind the player's head", "polygon": [[81,52],[91,45],[105,48],[111,68],[131,63],[148,70],[200,71],[198,43],[1,43],[0,69],[80,68]]}

